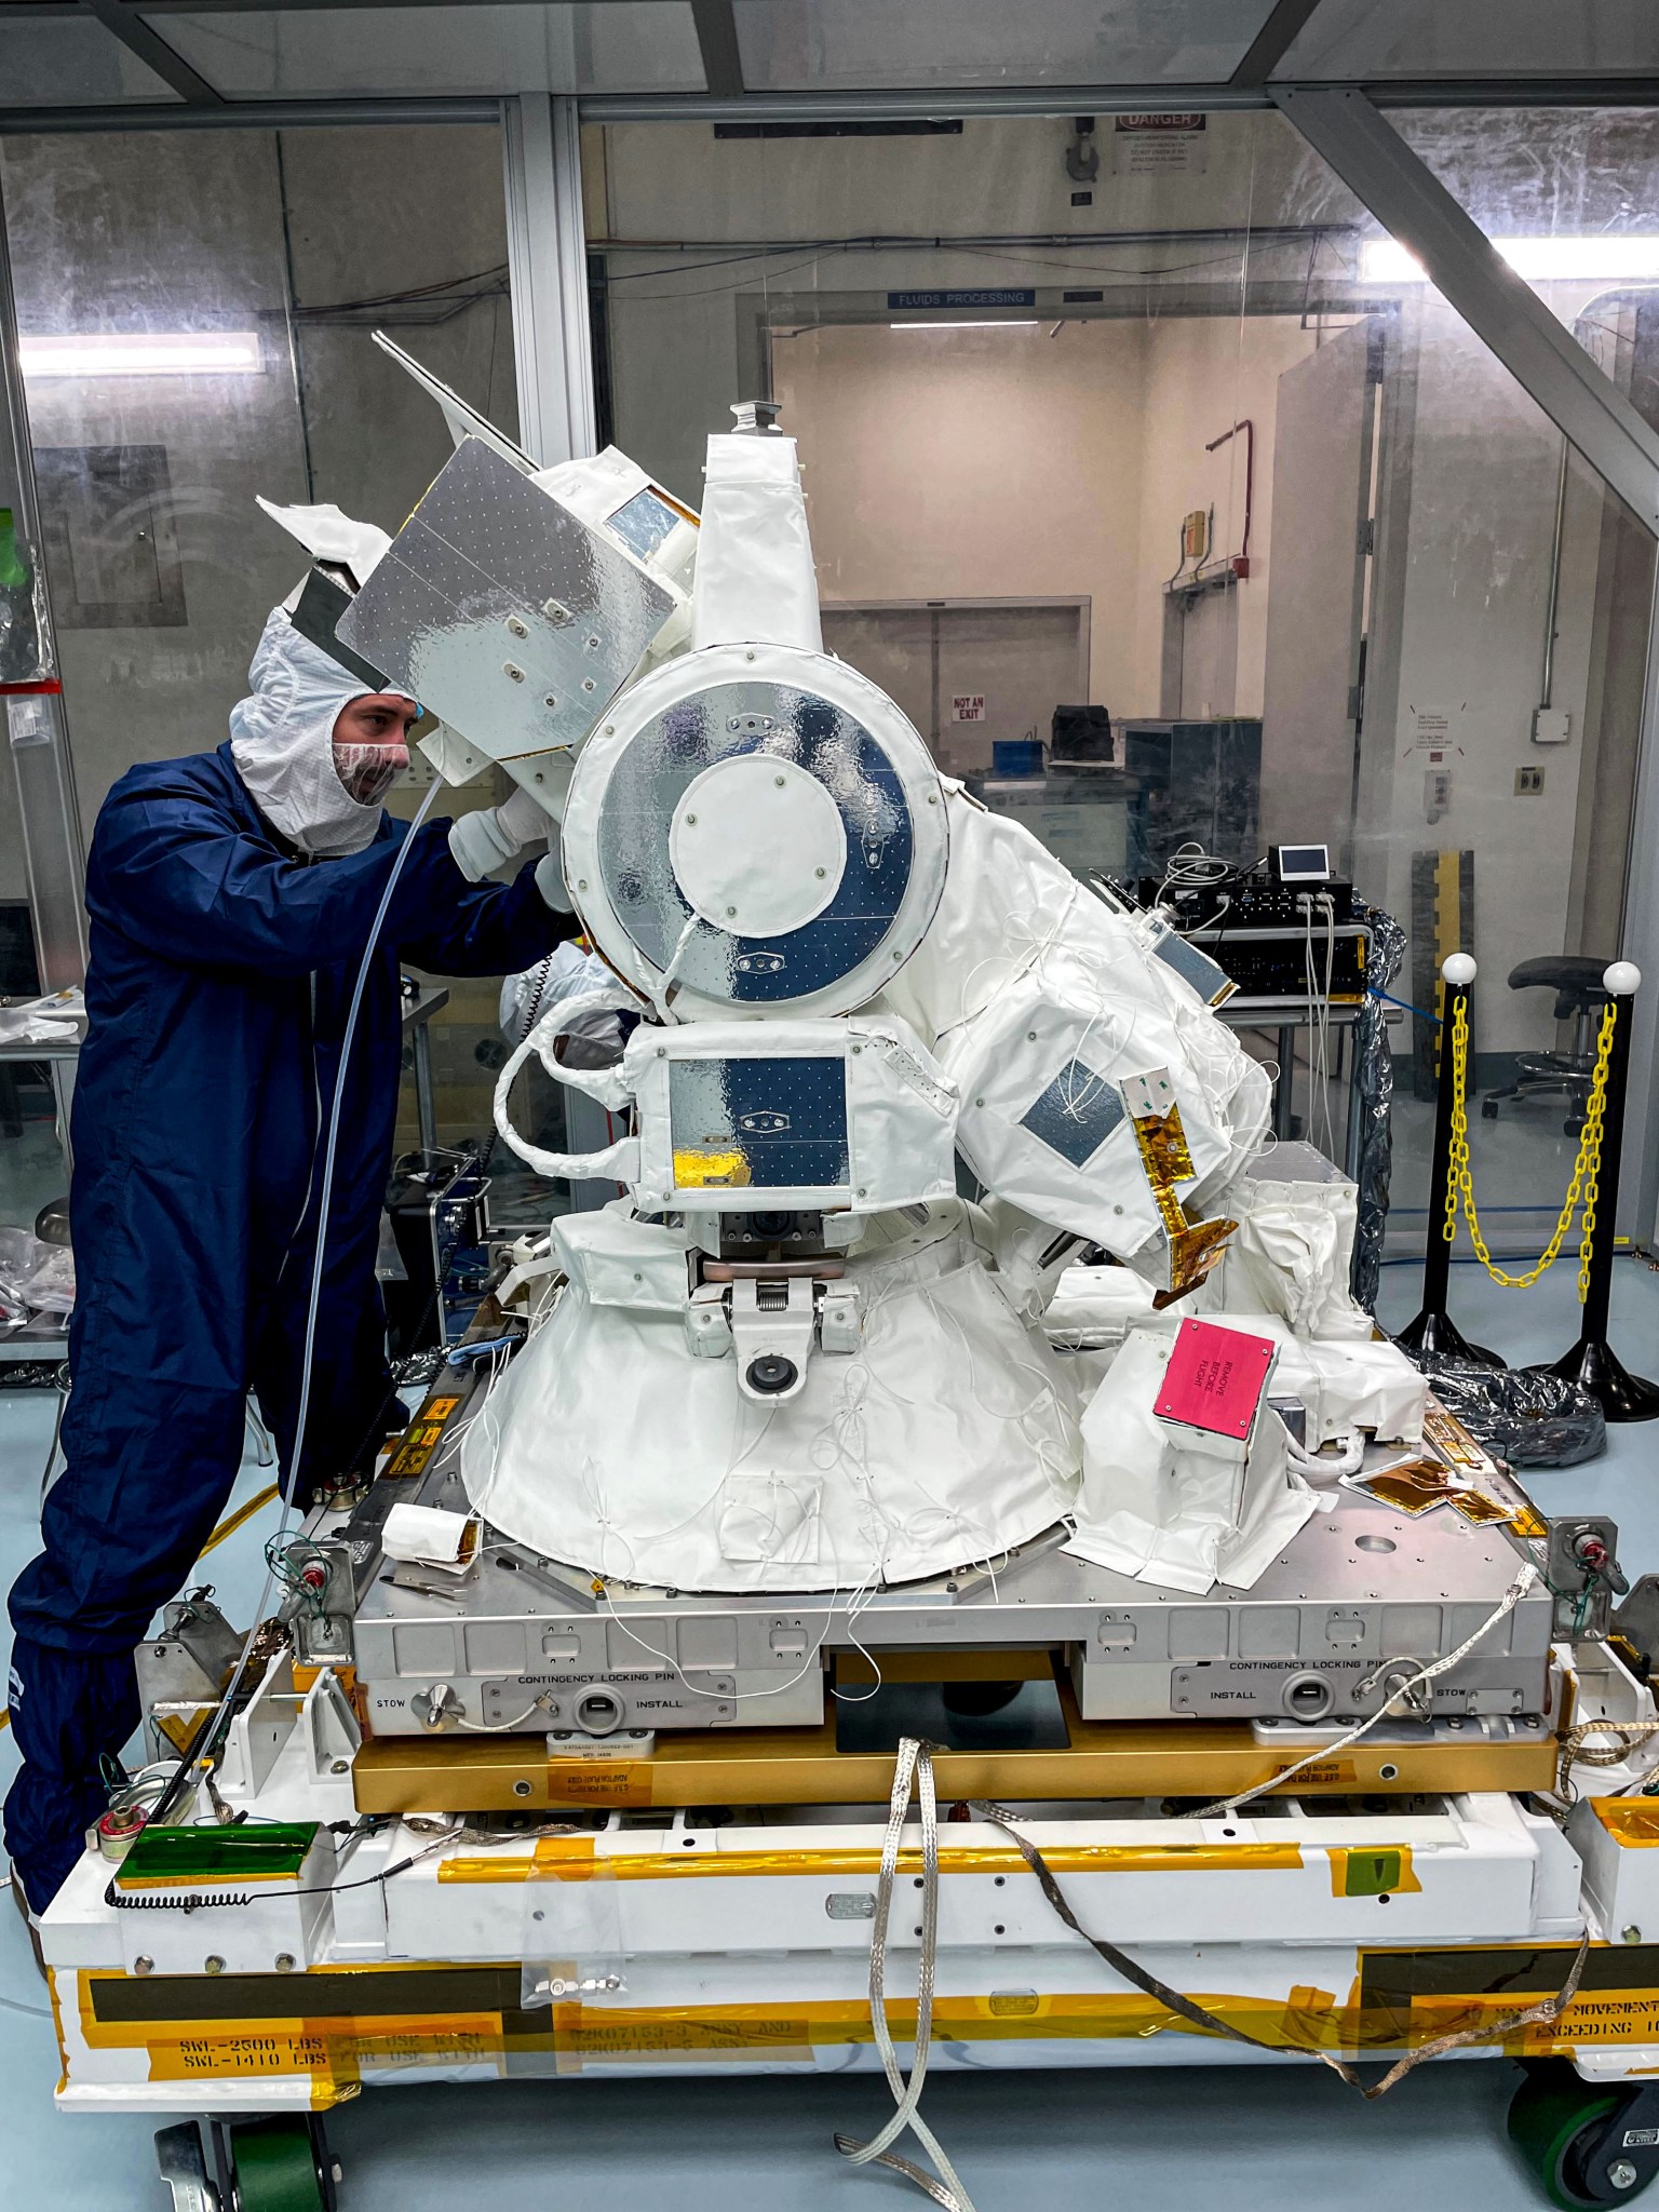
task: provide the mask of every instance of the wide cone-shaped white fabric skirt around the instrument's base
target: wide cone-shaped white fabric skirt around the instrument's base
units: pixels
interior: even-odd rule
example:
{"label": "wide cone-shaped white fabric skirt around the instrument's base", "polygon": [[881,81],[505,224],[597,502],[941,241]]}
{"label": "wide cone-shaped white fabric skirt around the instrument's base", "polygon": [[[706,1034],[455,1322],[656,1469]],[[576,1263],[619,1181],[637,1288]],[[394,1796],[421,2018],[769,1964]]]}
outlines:
{"label": "wide cone-shaped white fabric skirt around the instrument's base", "polygon": [[688,1356],[686,1232],[617,1201],[553,1239],[571,1281],[460,1453],[515,1542],[679,1590],[852,1590],[993,1559],[1071,1509],[1064,1367],[960,1201],[849,1259],[863,1345],[814,1354],[776,1407]]}

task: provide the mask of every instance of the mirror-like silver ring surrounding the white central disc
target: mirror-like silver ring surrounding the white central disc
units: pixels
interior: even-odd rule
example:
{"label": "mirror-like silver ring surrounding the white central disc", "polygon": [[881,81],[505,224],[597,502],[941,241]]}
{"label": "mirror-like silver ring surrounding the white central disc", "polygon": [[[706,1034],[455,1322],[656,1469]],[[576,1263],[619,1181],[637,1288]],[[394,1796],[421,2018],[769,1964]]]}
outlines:
{"label": "mirror-like silver ring surrounding the white central disc", "polygon": [[[686,785],[745,752],[816,776],[847,838],[836,896],[785,936],[741,938],[699,920],[668,854]],[[754,872],[768,860],[752,854]],[[785,684],[717,684],[666,708],[628,741],[599,807],[599,872],[617,920],[653,967],[730,1006],[785,1006],[849,975],[894,927],[911,860],[909,805],[883,745],[843,708]]]}

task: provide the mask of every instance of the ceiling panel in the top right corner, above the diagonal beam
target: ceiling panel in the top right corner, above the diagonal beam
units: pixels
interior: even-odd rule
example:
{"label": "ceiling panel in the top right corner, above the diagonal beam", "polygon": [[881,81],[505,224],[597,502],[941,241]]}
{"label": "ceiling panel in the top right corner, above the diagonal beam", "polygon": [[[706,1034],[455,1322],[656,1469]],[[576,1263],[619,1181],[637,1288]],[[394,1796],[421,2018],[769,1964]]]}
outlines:
{"label": "ceiling panel in the top right corner, above the diagonal beam", "polygon": [[1659,69],[1655,0],[1321,0],[1276,77],[1624,75]]}

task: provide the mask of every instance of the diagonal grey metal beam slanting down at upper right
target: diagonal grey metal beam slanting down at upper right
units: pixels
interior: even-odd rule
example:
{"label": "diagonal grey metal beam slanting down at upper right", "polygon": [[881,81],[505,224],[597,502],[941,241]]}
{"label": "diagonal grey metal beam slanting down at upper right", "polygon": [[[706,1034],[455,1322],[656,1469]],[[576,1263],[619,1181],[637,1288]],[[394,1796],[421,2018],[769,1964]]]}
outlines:
{"label": "diagonal grey metal beam slanting down at upper right", "polygon": [[1363,93],[1270,86],[1343,184],[1659,538],[1659,434]]}

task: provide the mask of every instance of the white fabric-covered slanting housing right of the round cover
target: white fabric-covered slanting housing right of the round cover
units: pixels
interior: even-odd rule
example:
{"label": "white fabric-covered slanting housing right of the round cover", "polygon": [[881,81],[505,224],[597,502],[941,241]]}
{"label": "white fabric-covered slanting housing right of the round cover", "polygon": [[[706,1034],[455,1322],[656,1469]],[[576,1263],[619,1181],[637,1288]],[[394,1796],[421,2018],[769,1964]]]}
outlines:
{"label": "white fabric-covered slanting housing right of the round cover", "polygon": [[1197,1219],[1261,1144],[1267,1075],[1029,830],[960,785],[947,805],[945,898],[883,1004],[936,1040],[987,1190],[1157,1272],[1164,1228],[1117,1084],[1168,1071],[1197,1170],[1177,1192]]}

